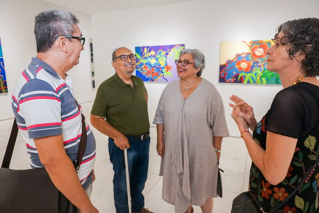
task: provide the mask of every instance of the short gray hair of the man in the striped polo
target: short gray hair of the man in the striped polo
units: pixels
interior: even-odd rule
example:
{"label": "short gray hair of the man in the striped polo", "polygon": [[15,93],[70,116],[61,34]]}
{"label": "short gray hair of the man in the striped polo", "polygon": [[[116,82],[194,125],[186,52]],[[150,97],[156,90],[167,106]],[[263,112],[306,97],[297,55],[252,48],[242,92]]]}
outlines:
{"label": "short gray hair of the man in the striped polo", "polygon": [[[74,24],[78,24],[77,17],[69,11],[45,10],[40,12],[34,20],[34,34],[37,52],[47,52],[59,35],[72,35]],[[68,38],[72,41],[71,38]]]}

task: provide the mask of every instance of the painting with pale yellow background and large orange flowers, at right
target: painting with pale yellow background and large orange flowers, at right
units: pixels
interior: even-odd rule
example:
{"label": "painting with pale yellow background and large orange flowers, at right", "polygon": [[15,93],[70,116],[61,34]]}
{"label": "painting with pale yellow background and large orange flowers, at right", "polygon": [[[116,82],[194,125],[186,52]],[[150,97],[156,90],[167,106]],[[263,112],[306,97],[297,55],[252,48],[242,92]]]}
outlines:
{"label": "painting with pale yellow background and large orange flowers, at right", "polygon": [[267,70],[266,51],[271,40],[221,42],[219,82],[244,84],[281,84],[276,72]]}

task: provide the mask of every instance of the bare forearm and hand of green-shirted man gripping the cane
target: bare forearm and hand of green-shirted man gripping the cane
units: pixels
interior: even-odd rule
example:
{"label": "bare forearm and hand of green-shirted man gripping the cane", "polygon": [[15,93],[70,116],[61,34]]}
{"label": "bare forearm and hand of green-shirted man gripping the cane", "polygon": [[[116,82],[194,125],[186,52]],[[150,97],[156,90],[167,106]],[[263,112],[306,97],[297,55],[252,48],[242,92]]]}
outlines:
{"label": "bare forearm and hand of green-shirted man gripping the cane", "polygon": [[115,145],[124,150],[125,148],[130,148],[129,140],[125,135],[123,135],[120,131],[115,129],[112,125],[110,125],[105,117],[100,117],[96,115],[90,115],[90,122],[94,128],[99,130],[101,133],[111,137],[114,139]]}

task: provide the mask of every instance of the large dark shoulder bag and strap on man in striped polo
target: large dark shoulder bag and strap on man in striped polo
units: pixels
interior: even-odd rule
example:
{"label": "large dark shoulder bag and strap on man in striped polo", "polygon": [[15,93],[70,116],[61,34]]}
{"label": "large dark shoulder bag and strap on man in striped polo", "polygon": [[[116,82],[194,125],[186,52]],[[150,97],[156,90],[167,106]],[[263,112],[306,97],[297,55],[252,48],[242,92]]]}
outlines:
{"label": "large dark shoulder bag and strap on man in striped polo", "polygon": [[[86,126],[82,115],[82,136],[76,171],[81,164],[86,148]],[[0,212],[1,213],[77,213],[74,206],[52,183],[45,168],[9,169],[18,126],[14,119],[8,146],[0,168]]]}

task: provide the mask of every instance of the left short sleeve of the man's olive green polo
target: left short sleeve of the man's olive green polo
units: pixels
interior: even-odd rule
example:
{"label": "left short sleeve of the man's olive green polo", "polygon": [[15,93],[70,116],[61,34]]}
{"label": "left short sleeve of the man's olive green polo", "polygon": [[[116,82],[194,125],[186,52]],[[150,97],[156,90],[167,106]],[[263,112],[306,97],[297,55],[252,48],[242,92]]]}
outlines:
{"label": "left short sleeve of the man's olive green polo", "polygon": [[100,87],[96,92],[91,114],[95,116],[106,117],[107,111],[108,96],[103,92],[103,89]]}

